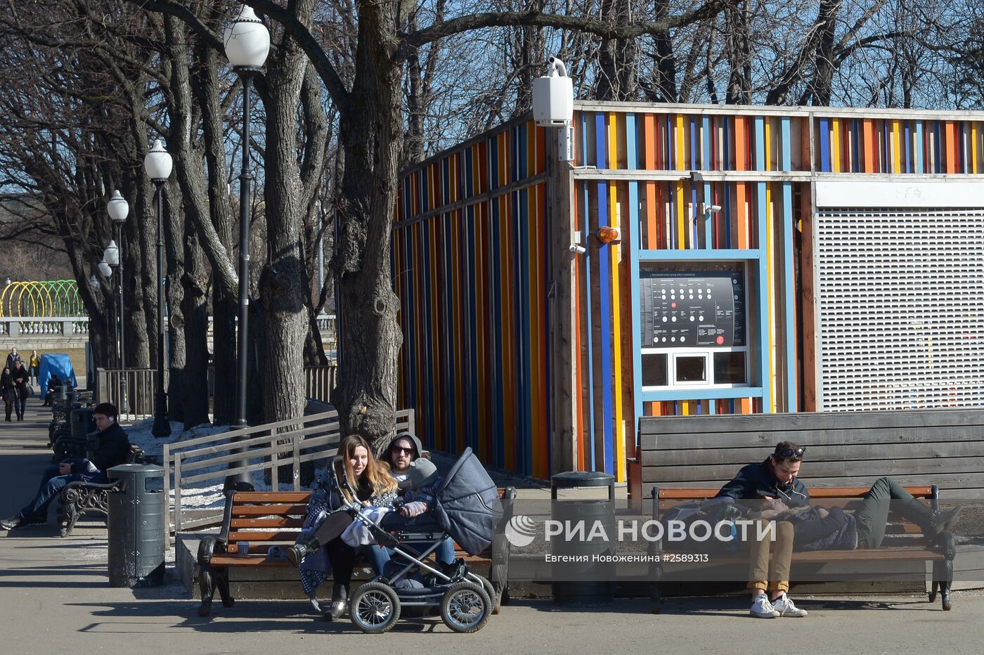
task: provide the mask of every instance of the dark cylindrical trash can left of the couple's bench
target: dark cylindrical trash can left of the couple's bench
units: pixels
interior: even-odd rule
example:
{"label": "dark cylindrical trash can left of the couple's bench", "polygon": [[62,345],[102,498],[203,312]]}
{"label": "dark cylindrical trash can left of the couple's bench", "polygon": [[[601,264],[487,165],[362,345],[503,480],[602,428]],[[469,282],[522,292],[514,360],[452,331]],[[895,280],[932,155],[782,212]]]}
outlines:
{"label": "dark cylindrical trash can left of the couple's bench", "polygon": [[164,469],[121,464],[107,472],[120,480],[107,498],[109,585],[149,587],[164,581]]}

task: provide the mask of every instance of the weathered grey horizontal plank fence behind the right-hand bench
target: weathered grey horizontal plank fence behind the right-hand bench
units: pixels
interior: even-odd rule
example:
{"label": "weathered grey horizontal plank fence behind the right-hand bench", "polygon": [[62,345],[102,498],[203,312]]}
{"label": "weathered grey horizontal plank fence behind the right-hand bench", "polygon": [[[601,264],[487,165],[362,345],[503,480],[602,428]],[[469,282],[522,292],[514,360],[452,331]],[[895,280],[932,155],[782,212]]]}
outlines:
{"label": "weathered grey horizontal plank fence behind the right-hand bench", "polygon": [[935,484],[945,498],[984,498],[984,409],[646,417],[633,495],[654,484],[720,486],[786,440],[807,448],[799,476],[807,487],[870,486],[890,475]]}

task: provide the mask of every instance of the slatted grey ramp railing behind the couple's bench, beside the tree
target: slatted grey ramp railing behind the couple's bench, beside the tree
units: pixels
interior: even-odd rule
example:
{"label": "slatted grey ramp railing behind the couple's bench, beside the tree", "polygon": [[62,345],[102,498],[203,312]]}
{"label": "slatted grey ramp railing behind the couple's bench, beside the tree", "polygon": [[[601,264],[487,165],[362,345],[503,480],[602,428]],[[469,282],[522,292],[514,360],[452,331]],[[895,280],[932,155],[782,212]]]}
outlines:
{"label": "slatted grey ramp railing behind the couple's bench, beside the tree", "polygon": [[[414,432],[412,409],[397,412],[397,431]],[[241,441],[231,442],[233,437]],[[301,464],[329,457],[338,449],[338,412],[335,410],[310,416],[267,423],[243,430],[208,435],[174,444],[164,444],[164,498],[170,498],[174,490],[173,509],[168,507],[168,533],[166,546],[170,544],[170,532],[212,527],[221,523],[222,507],[206,509],[205,515],[186,519],[182,511],[182,496],[189,485],[196,483],[220,483],[229,475],[270,470],[271,489],[280,486],[279,469],[290,467],[289,484],[293,491],[301,489]],[[245,453],[233,452],[240,447],[249,448]],[[245,460],[244,466],[215,470],[216,465]],[[173,480],[173,482],[172,482]],[[173,512],[173,513],[172,513]]]}

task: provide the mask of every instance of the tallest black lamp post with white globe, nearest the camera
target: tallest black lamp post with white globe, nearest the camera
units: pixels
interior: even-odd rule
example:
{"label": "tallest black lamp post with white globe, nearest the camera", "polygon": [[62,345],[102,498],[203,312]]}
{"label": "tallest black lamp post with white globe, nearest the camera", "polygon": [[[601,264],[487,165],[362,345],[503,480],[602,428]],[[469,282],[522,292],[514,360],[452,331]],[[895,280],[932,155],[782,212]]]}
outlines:
{"label": "tallest black lamp post with white globe, nearest the camera", "polygon": [[[239,322],[236,333],[236,428],[245,428],[246,423],[246,372],[249,345],[249,219],[252,204],[251,193],[253,175],[249,171],[249,119],[250,119],[250,79],[262,71],[267,55],[270,53],[270,31],[256,17],[253,8],[243,5],[236,19],[225,30],[225,56],[232,64],[243,84],[243,132],[242,162],[239,172]],[[241,438],[233,438],[241,441]],[[245,448],[233,451],[245,453]],[[248,461],[240,459],[229,463],[230,468],[244,468]],[[225,479],[226,488],[237,482],[249,482],[248,473],[239,472]]]}

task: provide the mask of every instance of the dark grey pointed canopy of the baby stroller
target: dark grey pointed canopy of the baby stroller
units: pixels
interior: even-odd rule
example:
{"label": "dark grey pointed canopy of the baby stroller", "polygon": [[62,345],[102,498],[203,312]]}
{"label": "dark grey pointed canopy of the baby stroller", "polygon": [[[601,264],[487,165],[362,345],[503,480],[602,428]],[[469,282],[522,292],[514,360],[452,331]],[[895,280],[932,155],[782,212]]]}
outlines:
{"label": "dark grey pointed canopy of the baby stroller", "polygon": [[478,457],[465,448],[437,492],[434,511],[441,527],[471,555],[492,543],[503,508],[499,491]]}

